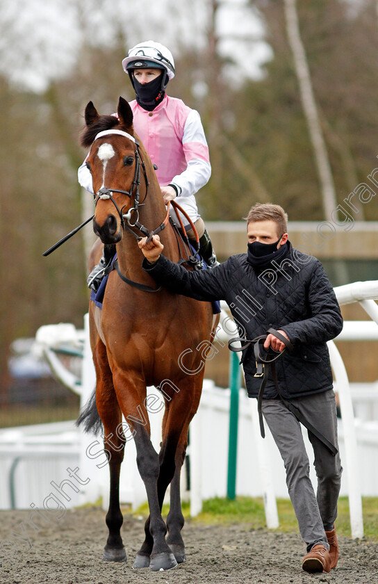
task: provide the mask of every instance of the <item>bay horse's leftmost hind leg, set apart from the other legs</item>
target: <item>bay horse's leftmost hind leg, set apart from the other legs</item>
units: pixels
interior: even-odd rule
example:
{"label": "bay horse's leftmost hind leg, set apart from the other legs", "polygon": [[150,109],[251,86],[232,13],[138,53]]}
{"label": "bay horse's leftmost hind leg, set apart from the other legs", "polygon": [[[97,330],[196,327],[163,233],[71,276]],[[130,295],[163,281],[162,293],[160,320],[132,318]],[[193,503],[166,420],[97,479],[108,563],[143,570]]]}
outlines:
{"label": "bay horse's leftmost hind leg, set apart from the other legs", "polygon": [[124,458],[122,413],[115,396],[106,349],[101,341],[97,343],[94,352],[94,365],[97,371],[96,403],[104,425],[104,448],[110,471],[109,508],[106,514],[109,533],[102,559],[106,562],[126,562],[126,551],[120,531],[123,523],[120,509],[120,471]]}

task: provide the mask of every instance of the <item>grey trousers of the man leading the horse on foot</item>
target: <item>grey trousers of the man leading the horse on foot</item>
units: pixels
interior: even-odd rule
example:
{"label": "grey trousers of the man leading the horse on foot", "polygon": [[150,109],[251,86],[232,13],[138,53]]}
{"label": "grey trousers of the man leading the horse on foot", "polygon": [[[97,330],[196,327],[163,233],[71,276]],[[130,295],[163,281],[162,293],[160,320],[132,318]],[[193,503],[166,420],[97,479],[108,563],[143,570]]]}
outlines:
{"label": "grey trousers of the man leading the horse on foot", "polygon": [[[294,398],[290,402],[338,448],[336,401],[332,389],[313,396]],[[325,531],[334,528],[337,517],[343,472],[340,456],[332,455],[317,437],[308,432],[318,478],[318,492],[315,496],[309,477],[309,457],[304,447],[299,421],[279,399],[263,400],[262,411],[284,460],[286,485],[307,551],[316,544],[322,544],[329,549]]]}

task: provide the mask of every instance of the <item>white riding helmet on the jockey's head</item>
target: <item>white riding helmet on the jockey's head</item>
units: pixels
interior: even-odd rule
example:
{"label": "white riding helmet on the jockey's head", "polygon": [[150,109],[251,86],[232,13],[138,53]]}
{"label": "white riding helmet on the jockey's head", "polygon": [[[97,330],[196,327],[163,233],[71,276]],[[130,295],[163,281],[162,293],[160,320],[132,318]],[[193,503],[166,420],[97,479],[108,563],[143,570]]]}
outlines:
{"label": "white riding helmet on the jockey's head", "polygon": [[160,42],[153,40],[135,44],[135,47],[130,49],[122,60],[122,67],[129,74],[133,69],[153,68],[154,65],[158,65],[158,69],[165,69],[168,79],[174,78],[174,60],[171,51]]}

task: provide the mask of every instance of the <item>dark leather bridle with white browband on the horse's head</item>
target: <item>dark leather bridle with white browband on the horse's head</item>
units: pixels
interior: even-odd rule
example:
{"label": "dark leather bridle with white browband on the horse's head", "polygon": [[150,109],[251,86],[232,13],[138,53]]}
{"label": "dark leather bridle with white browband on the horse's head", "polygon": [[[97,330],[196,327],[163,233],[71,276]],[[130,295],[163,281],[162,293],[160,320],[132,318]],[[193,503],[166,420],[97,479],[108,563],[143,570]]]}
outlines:
{"label": "dark leather bridle with white browband on the horse's head", "polygon": [[[139,231],[144,236],[147,236],[149,239],[151,239],[158,232],[161,232],[162,229],[165,228],[165,225],[167,225],[167,222],[169,220],[169,212],[170,212],[169,207],[170,206],[168,205],[167,215],[165,216],[165,220],[161,223],[161,225],[158,225],[158,227],[156,227],[156,229],[149,230],[149,229],[147,229],[147,227],[145,227],[145,225],[142,225],[142,223],[140,223],[140,221],[139,221],[139,206],[142,206],[145,204],[145,200],[146,200],[147,194],[148,194],[149,180],[147,177],[145,162],[143,161],[142,156],[140,156],[139,142],[138,142],[138,140],[136,140],[134,138],[134,136],[131,136],[131,134],[129,134],[123,130],[117,130],[117,129],[110,129],[110,130],[101,131],[97,134],[97,136],[95,136],[93,141],[97,140],[98,138],[103,138],[104,136],[108,136],[109,134],[118,134],[120,136],[124,136],[125,138],[128,138],[129,140],[131,140],[135,144],[135,151],[134,151],[134,154],[135,154],[135,172],[134,172],[134,177],[133,177],[133,183],[131,184],[130,190],[122,190],[120,188],[112,188],[112,187],[107,187],[107,186],[101,187],[99,190],[97,190],[97,193],[93,195],[94,206],[97,206],[97,203],[99,202],[99,200],[110,199],[110,201],[115,206],[115,209],[117,210],[118,215],[120,216],[122,229],[129,229],[129,231],[131,231],[131,233],[133,233],[133,235],[135,235],[136,238],[140,239],[140,236],[135,234],[133,229],[131,229],[132,227],[136,227],[137,229],[139,229]],[[144,198],[142,203],[140,202],[140,193],[139,193],[140,169],[141,168],[143,171],[143,177],[145,179],[145,184],[146,184],[146,194],[145,194],[145,198]],[[127,197],[129,197],[130,200],[131,200],[131,197],[134,197],[133,207],[131,207],[129,209],[129,211],[127,211],[127,213],[124,213],[123,210],[124,210],[124,207],[126,205],[122,206],[122,208],[120,209],[120,207],[115,202],[112,193],[122,193],[122,195],[126,195]],[[135,220],[134,220],[134,222],[131,222],[131,217],[133,216],[134,213],[135,213]]]}

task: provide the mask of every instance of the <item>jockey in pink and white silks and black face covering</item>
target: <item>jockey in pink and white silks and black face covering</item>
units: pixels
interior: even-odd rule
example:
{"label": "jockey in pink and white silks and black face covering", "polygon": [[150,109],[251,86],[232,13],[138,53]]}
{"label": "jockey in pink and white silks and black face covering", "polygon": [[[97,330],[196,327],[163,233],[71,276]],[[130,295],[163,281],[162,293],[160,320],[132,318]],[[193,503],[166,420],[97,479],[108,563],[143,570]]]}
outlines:
{"label": "jockey in pink and white silks and black face covering", "polygon": [[[208,267],[213,268],[218,262],[195,200],[195,194],[211,175],[208,145],[199,113],[181,99],[166,94],[167,83],[174,78],[174,60],[163,44],[151,40],[136,44],[122,60],[122,67],[135,90],[135,99],[130,103],[133,126],[152,163],[157,166],[156,175],[164,201],[176,199],[188,213],[199,235],[199,254]],[[78,175],[81,186],[92,193],[92,177],[85,162]],[[195,240],[188,220],[182,215],[181,219],[188,237]],[[88,277],[88,286],[94,290],[98,289],[110,261],[109,250],[106,256]]]}

